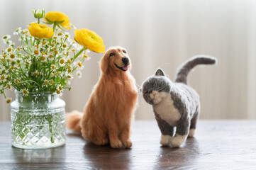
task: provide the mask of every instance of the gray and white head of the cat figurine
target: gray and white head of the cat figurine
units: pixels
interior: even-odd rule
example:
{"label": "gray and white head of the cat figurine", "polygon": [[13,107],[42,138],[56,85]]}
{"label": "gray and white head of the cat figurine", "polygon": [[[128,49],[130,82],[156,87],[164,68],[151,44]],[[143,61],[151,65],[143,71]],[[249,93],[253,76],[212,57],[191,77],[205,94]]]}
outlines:
{"label": "gray and white head of the cat figurine", "polygon": [[142,89],[143,98],[151,105],[160,103],[162,98],[169,94],[171,90],[171,81],[165,77],[162,69],[157,69],[155,76],[148,77],[143,82]]}

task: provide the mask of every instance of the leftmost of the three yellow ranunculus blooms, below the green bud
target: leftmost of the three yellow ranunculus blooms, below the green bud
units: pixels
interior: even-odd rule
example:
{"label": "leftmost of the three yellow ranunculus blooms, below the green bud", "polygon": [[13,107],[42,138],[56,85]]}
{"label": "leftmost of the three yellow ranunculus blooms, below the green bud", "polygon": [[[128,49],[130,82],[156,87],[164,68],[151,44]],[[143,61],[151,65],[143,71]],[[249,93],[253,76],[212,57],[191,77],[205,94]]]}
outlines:
{"label": "leftmost of the three yellow ranunculus blooms, below the green bud", "polygon": [[53,29],[48,26],[39,24],[39,23],[31,23],[30,27],[28,26],[28,30],[30,35],[35,38],[51,38],[53,35]]}

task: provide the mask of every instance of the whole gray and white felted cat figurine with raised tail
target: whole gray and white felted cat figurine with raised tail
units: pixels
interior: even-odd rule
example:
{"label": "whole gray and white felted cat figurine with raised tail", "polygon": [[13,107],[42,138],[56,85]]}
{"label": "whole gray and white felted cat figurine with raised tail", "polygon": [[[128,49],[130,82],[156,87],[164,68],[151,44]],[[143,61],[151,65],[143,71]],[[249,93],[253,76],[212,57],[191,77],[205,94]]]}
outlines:
{"label": "whole gray and white felted cat figurine with raised tail", "polygon": [[[200,101],[196,91],[187,85],[187,75],[198,64],[215,64],[216,61],[216,58],[205,55],[191,57],[182,64],[174,82],[162,69],[157,69],[154,76],[143,82],[141,91],[145,101],[153,107],[162,133],[161,145],[179,147],[187,136],[194,136]],[[175,135],[174,127],[177,127]]]}

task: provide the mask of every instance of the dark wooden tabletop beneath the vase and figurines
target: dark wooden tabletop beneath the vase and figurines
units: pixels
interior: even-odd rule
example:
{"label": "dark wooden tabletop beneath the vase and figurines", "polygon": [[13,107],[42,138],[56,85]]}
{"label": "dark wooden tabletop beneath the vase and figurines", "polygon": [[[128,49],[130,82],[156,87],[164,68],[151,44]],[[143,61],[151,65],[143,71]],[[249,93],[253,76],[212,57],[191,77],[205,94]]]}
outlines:
{"label": "dark wooden tabletop beneath the vase and figurines", "polygon": [[255,120],[199,120],[179,149],[161,147],[155,121],[133,123],[133,147],[111,149],[67,131],[53,149],[11,146],[10,123],[0,122],[0,169],[256,169]]}

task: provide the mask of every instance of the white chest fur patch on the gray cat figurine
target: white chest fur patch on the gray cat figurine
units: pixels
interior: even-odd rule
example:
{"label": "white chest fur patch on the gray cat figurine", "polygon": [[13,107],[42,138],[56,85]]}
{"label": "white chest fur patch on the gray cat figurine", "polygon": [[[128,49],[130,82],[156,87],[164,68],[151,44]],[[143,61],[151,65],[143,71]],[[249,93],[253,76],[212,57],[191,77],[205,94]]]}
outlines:
{"label": "white chest fur patch on the gray cat figurine", "polygon": [[171,94],[165,93],[165,95],[160,96],[163,96],[159,99],[160,102],[153,105],[155,112],[160,116],[160,118],[169,123],[169,125],[176,126],[177,121],[180,119],[181,115],[177,108],[174,107]]}

